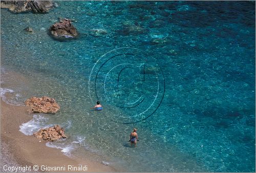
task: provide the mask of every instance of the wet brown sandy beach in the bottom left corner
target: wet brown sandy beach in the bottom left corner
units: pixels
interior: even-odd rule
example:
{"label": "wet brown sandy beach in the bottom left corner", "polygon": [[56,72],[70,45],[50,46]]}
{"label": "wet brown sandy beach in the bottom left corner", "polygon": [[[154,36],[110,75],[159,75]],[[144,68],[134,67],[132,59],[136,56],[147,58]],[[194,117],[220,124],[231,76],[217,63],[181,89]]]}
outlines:
{"label": "wet brown sandy beach in the bottom left corner", "polygon": [[[27,171],[32,172],[55,171],[45,170],[45,166],[50,167],[50,169],[54,169],[54,167],[65,168],[64,170],[56,171],[76,171],[68,170],[69,165],[72,165],[72,168],[77,169],[77,171],[80,169],[78,167],[81,166],[87,168],[87,170],[81,170],[83,172],[117,172],[117,170],[111,166],[106,166],[90,159],[69,158],[64,155],[60,149],[47,147],[46,141],[37,139],[32,135],[26,136],[20,132],[19,125],[32,119],[32,115],[28,114],[27,109],[27,106],[7,104],[1,98],[1,145],[4,146],[3,148],[1,146],[1,155],[5,153],[2,152],[2,150],[5,149],[7,153],[11,154],[7,156],[9,159],[14,163],[16,162],[19,166],[28,166]],[[1,157],[1,163],[7,162],[4,158]],[[4,165],[1,165],[1,170],[6,171],[5,169],[7,169],[8,166],[16,166],[11,164],[5,166],[5,168],[3,167]],[[34,170],[34,165],[38,165],[39,169]]]}

